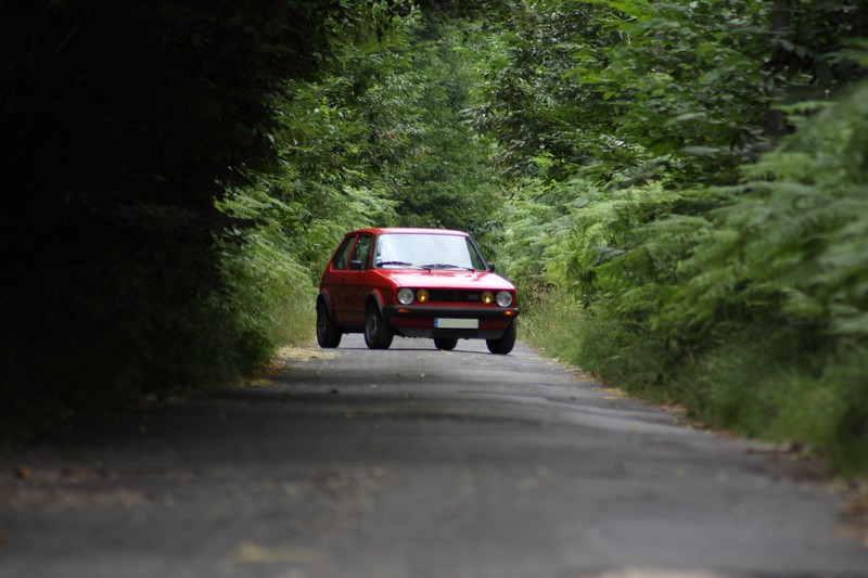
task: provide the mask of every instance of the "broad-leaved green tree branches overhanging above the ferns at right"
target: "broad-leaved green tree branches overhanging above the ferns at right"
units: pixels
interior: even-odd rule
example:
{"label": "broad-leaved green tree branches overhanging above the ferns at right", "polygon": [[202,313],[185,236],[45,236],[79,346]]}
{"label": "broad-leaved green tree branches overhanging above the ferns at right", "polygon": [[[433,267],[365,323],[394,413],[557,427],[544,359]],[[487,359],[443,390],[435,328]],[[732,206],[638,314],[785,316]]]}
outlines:
{"label": "broad-leaved green tree branches overhanging above the ferns at right", "polygon": [[735,182],[791,128],[778,105],[861,74],[847,49],[868,29],[834,1],[547,0],[511,18],[476,111],[506,169],[679,185]]}

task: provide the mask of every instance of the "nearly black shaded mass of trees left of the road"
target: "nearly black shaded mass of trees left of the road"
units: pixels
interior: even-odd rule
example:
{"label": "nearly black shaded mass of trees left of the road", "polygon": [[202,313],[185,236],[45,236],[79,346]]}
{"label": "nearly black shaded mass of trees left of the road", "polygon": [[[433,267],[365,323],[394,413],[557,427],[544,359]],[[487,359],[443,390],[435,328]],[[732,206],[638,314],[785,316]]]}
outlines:
{"label": "nearly black shaded mass of trees left of the road", "polygon": [[233,223],[214,201],[273,159],[269,99],[322,63],[342,10],[0,1],[7,413],[243,365],[220,343],[215,241]]}

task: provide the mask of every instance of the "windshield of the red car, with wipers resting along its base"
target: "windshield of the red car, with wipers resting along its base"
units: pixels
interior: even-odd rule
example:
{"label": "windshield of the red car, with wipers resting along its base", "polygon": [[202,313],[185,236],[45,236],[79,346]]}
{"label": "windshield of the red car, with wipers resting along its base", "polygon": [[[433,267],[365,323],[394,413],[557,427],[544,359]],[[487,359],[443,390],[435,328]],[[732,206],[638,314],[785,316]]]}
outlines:
{"label": "windshield of the red car, with wipers resting along its base", "polygon": [[485,269],[470,237],[429,233],[385,233],[376,240],[375,267]]}

